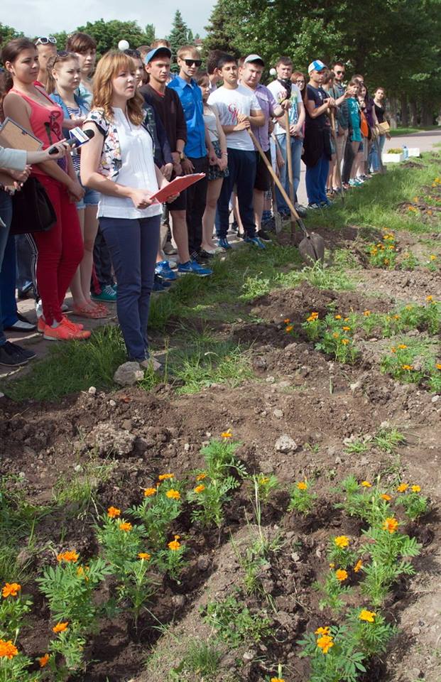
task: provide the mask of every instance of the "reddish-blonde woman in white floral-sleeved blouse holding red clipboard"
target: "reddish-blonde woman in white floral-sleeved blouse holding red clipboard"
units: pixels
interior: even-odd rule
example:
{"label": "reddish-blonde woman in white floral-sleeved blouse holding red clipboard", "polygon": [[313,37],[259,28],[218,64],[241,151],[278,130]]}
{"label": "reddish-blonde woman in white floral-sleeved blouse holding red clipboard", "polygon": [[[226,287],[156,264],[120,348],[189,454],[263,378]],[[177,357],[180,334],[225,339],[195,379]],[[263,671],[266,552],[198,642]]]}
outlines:
{"label": "reddish-blonde woman in white floral-sleeved blouse holding red clipboard", "polygon": [[[81,179],[101,194],[99,227],[118,282],[117,312],[130,360],[160,364],[148,355],[147,323],[162,207],[152,195],[168,185],[153,161],[143,98],[136,92],[134,60],[111,51],[94,75],[93,108],[83,130],[94,137],[82,148]],[[178,196],[168,197],[168,202]]]}

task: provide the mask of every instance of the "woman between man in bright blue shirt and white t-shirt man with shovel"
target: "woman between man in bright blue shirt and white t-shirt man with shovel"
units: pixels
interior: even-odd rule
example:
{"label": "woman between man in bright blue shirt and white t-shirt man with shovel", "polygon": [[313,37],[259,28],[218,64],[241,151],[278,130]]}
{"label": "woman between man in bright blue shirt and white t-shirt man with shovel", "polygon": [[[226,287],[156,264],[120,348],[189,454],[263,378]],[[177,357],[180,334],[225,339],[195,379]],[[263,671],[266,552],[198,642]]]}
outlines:
{"label": "woman between man in bright blue shirt and white t-shirt man with shovel", "polygon": [[205,139],[209,149],[209,169],[207,203],[204,216],[202,217],[202,244],[201,249],[209,254],[217,251],[217,245],[213,241],[214,218],[216,217],[217,200],[224,178],[228,175],[227,140],[224,129],[219,121],[215,105],[207,104],[210,90],[210,80],[207,73],[201,73],[197,77],[197,85],[202,92],[204,102]]}

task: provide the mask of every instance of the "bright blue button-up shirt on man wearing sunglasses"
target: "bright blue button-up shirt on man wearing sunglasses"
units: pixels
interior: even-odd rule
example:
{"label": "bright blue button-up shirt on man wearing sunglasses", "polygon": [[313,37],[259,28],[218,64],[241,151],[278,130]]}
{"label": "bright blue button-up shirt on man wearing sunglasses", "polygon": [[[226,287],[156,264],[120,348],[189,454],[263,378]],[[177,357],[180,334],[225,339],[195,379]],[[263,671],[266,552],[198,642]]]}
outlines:
{"label": "bright blue button-up shirt on man wearing sunglasses", "polygon": [[178,93],[180,103],[183,105],[185,123],[187,124],[187,144],[185,156],[190,158],[202,158],[207,156],[205,146],[204,103],[202,93],[195,80],[187,83],[180,76],[175,76],[167,87],[171,87]]}

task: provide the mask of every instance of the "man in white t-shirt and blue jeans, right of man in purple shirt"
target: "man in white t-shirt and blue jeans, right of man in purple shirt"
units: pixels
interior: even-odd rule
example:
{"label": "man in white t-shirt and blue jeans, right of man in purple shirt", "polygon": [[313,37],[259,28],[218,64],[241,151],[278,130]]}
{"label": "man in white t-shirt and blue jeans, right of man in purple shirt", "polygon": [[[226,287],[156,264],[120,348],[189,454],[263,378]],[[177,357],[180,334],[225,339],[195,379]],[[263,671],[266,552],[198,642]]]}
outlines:
{"label": "man in white t-shirt and blue jeans, right of man in purple shirt", "polygon": [[[279,104],[283,104],[288,99],[290,107],[288,109],[289,115],[289,136],[291,144],[291,159],[293,166],[293,185],[294,194],[297,194],[298,185],[300,184],[300,161],[302,158],[303,146],[303,124],[305,123],[305,107],[303,105],[302,93],[297,85],[291,82],[291,74],[293,72],[293,63],[289,57],[281,57],[276,64],[277,78],[268,85],[268,90],[271,90],[274,99]],[[285,130],[285,116],[278,118],[274,134],[278,144],[281,146],[285,165],[281,168],[281,183],[289,196],[289,181],[288,181],[288,156],[286,153],[286,139],[287,131]],[[290,210],[287,203],[283,199],[280,191],[276,187],[276,197],[278,210],[282,214],[290,215]],[[297,200],[296,200],[297,201]],[[296,205],[296,208],[298,205]],[[303,207],[300,207],[303,212]]]}

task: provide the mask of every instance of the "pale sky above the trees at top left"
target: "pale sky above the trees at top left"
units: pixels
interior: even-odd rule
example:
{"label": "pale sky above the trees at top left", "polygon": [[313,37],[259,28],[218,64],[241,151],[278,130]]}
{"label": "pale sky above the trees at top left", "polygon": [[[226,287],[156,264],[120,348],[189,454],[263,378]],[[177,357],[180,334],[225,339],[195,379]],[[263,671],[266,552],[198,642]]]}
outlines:
{"label": "pale sky above the trees at top left", "polygon": [[23,31],[26,36],[48,36],[63,30],[69,33],[100,18],[136,20],[142,28],[153,23],[156,36],[163,38],[170,32],[175,11],[180,9],[188,28],[204,36],[214,3],[215,0],[192,0],[185,6],[176,0],[131,0],[127,5],[121,0],[1,0],[1,23]]}

